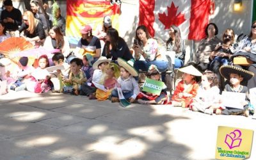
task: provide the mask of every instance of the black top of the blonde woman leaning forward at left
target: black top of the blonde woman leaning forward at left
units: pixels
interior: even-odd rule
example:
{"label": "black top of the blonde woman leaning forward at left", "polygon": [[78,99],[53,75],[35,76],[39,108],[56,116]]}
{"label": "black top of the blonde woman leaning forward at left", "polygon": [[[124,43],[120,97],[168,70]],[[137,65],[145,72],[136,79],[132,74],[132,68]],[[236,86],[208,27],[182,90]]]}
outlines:
{"label": "black top of the blonde woman leaning forward at left", "polygon": [[45,32],[41,22],[38,22],[34,33],[30,34],[29,31],[27,31],[27,29],[28,29],[28,26],[25,23],[22,23],[18,30],[20,32],[24,31],[24,35],[28,38],[34,38],[36,36],[39,36],[40,40],[43,40],[45,38]]}

